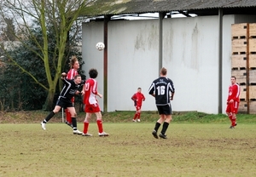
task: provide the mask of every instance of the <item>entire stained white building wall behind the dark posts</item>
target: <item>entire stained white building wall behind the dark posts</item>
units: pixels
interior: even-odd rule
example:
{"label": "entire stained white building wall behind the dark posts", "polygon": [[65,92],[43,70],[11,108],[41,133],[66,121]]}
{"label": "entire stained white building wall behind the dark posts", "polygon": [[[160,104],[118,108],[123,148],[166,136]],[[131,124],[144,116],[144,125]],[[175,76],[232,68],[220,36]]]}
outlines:
{"label": "entire stained white building wall behind the dark posts", "polygon": [[[224,15],[223,111],[235,19],[235,15]],[[131,95],[138,87],[146,97],[143,111],[156,110],[148,87],[159,77],[158,35],[159,20],[108,23],[108,111],[135,110]],[[95,49],[99,41],[103,41],[103,22],[83,24],[83,69],[86,73],[92,67],[98,69],[98,91],[103,94],[103,52]],[[176,88],[173,111],[218,113],[218,16],[164,19],[163,66]],[[103,100],[99,102],[103,108]]]}

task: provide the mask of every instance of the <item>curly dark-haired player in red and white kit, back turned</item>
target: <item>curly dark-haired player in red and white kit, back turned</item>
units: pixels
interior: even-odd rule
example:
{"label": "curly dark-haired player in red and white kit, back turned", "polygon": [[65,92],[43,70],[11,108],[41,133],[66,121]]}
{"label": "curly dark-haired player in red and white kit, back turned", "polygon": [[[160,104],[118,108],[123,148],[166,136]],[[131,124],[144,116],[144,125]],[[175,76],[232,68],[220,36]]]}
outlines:
{"label": "curly dark-haired player in red and white kit, back turned", "polygon": [[96,77],[98,76],[98,71],[96,69],[90,69],[89,71],[90,78],[84,84],[83,92],[84,92],[84,111],[86,116],[84,118],[84,131],[83,136],[92,136],[92,134],[88,133],[90,117],[92,113],[96,114],[96,123],[99,130],[99,136],[108,136],[107,133],[103,131],[102,125],[102,113],[100,106],[98,105],[98,100],[96,99],[96,95],[102,98],[102,94],[97,91],[97,81]]}

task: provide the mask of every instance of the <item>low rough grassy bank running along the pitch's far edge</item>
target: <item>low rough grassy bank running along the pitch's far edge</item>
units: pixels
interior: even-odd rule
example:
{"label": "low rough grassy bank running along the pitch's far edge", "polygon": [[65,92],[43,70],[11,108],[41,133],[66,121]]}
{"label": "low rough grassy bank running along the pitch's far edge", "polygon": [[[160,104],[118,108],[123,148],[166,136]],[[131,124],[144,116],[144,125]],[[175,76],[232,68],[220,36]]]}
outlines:
{"label": "low rough grassy bank running along the pitch's far edge", "polygon": [[[135,111],[112,111],[102,112],[105,123],[129,123]],[[0,112],[0,123],[39,123],[44,120],[49,111],[15,111]],[[65,117],[65,113],[63,114]],[[79,112],[78,122],[84,121],[85,113]],[[92,117],[94,121],[96,117]],[[157,111],[142,111],[141,120],[143,123],[155,122],[159,118]],[[207,114],[198,111],[173,112],[173,123],[229,123],[225,114]],[[61,123],[62,112],[60,111],[50,122]],[[238,114],[237,123],[256,123],[256,115]]]}

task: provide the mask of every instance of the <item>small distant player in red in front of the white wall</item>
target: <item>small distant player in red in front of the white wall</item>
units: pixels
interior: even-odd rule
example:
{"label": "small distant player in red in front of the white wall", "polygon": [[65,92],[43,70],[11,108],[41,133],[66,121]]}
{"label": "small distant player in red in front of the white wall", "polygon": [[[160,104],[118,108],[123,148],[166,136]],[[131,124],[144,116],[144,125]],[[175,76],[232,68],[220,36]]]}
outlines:
{"label": "small distant player in red in front of the white wall", "polygon": [[137,93],[132,95],[131,100],[134,101],[134,106],[136,107],[136,112],[132,121],[141,122],[141,111],[142,111],[143,101],[145,100],[145,96],[142,93],[142,88],[137,88]]}

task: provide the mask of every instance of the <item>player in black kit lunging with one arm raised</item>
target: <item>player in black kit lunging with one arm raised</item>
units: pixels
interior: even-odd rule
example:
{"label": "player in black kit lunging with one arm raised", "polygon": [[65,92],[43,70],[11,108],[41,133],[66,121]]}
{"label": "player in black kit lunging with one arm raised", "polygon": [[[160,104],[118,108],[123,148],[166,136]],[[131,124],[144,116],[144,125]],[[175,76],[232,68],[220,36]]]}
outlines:
{"label": "player in black kit lunging with one arm raised", "polygon": [[[79,88],[84,85],[84,80],[82,81],[80,75],[76,75],[72,80],[66,78],[67,74],[63,72],[61,74],[61,79],[64,83],[64,87],[61,90],[61,94],[56,102],[55,109],[49,112],[49,115],[45,117],[44,121],[41,123],[42,128],[45,130],[45,124],[49,122],[49,119],[55,116],[55,113],[61,110],[61,108],[67,108],[71,113],[72,124],[73,124],[73,134],[83,134],[77,128],[77,113],[73,106],[72,98],[75,94],[83,94],[79,92]],[[83,91],[82,91],[83,92]]]}

